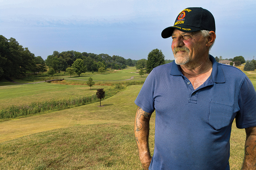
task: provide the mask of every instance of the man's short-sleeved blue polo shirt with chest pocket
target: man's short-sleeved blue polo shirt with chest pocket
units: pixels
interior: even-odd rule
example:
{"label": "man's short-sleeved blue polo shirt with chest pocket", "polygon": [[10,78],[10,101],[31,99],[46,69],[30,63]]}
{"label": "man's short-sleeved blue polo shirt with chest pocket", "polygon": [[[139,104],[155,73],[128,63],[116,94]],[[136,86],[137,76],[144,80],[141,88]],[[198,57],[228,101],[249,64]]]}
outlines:
{"label": "man's short-sleeved blue polo shirt with chest pocket", "polygon": [[135,104],[156,110],[149,170],[229,170],[230,132],[256,126],[256,92],[238,68],[214,57],[211,76],[196,90],[175,62],[154,68]]}

